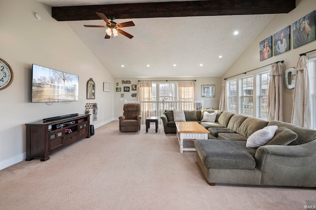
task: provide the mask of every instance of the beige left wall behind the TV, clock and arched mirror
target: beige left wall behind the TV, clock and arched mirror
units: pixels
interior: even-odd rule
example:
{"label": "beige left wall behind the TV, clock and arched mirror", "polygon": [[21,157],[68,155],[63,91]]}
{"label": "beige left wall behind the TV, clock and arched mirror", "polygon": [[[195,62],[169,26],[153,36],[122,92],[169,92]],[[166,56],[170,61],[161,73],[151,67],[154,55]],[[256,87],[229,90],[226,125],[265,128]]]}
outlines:
{"label": "beige left wall behind the TV, clock and arched mirror", "polygon": [[[41,15],[40,21],[34,12]],[[0,169],[24,160],[25,123],[54,116],[83,114],[86,103],[98,104],[95,127],[113,120],[113,77],[66,22],[51,17],[51,8],[36,0],[1,0],[0,58],[13,69],[13,83],[0,90]],[[31,103],[32,63],[79,75],[79,101]],[[86,99],[93,78],[96,99]],[[103,82],[111,92],[103,92]]]}

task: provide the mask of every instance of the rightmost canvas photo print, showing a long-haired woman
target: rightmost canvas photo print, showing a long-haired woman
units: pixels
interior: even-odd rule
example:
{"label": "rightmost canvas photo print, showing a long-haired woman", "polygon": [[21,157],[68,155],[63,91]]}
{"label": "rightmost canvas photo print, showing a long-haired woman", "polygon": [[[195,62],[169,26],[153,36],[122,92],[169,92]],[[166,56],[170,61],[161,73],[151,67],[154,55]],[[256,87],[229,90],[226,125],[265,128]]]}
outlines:
{"label": "rightmost canvas photo print, showing a long-haired woman", "polygon": [[293,48],[300,47],[316,39],[315,11],[292,24]]}

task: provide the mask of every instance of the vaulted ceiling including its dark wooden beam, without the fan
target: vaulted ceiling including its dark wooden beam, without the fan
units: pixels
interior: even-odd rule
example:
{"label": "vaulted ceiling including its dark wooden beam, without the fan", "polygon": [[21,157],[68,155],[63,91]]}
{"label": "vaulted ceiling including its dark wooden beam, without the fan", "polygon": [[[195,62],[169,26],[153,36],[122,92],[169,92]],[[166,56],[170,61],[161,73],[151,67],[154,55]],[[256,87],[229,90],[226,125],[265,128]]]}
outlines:
{"label": "vaulted ceiling including its dark wooden beam, without the fan", "polygon": [[[38,1],[52,6],[52,17],[67,21],[114,77],[220,77],[276,14],[295,8],[295,0]],[[106,25],[96,12],[133,21],[122,30],[134,37],[105,39],[105,28],[83,27]]]}

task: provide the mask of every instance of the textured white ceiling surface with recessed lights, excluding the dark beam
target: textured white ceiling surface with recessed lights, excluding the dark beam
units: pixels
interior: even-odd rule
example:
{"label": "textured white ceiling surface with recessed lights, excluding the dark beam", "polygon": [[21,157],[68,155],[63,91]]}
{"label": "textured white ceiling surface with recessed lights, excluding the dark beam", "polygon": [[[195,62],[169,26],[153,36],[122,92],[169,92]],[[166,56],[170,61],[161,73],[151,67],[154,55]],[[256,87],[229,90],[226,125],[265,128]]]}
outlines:
{"label": "textured white ceiling surface with recessed lights, excluding the dark beam", "polygon": [[[158,2],[38,1],[51,6]],[[104,39],[106,29],[83,27],[105,25],[103,20],[69,21],[68,24],[113,77],[221,77],[274,17],[266,14],[116,19],[116,23],[134,22],[134,27],[123,28],[134,36],[132,39],[121,34]],[[239,31],[238,35],[233,34],[235,30]],[[223,58],[219,59],[219,55]]]}

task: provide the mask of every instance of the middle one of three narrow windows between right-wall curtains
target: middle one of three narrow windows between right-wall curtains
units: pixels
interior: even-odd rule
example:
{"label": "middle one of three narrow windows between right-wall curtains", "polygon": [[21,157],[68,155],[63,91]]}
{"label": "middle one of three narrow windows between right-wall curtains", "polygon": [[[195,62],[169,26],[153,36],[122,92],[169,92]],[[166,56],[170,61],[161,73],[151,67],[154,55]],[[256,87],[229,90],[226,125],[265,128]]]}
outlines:
{"label": "middle one of three narrow windows between right-wall curtains", "polygon": [[253,77],[241,79],[241,114],[253,115]]}

